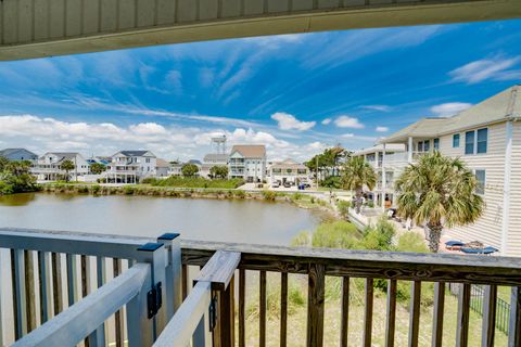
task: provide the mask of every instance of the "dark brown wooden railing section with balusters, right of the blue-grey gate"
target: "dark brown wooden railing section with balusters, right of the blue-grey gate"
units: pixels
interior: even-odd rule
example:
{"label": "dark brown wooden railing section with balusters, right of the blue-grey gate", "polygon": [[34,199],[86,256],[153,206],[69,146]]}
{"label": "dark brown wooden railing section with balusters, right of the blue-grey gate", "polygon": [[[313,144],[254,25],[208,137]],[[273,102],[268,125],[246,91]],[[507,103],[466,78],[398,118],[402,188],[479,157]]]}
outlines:
{"label": "dark brown wooden railing section with balusters, right of the blue-grey gate", "polygon": [[[363,346],[372,346],[374,291],[377,279],[387,281],[385,312],[385,346],[395,346],[397,283],[411,283],[408,322],[408,346],[418,346],[420,332],[421,284],[434,282],[432,317],[432,346],[469,346],[470,288],[471,284],[485,285],[485,307],[482,324],[482,346],[494,346],[495,313],[498,286],[511,287],[511,317],[508,346],[521,346],[521,260],[519,258],[457,256],[432,254],[383,253],[369,250],[340,250],[320,248],[290,248],[247,244],[209,242],[182,242],[183,269],[204,266],[216,250],[241,254],[239,262],[238,345],[246,346],[245,292],[246,273],[258,272],[258,346],[267,344],[267,274],[280,273],[280,326],[279,344],[287,346],[288,331],[288,278],[289,274],[307,277],[307,334],[306,345],[322,346],[325,339],[326,278],[341,278],[340,346],[347,346],[350,316],[350,283],[363,279],[364,329]],[[187,281],[188,275],[183,275]],[[459,283],[456,336],[444,334],[445,283]],[[188,285],[186,285],[188,287]],[[422,327],[424,329],[424,327]],[[475,334],[475,332],[471,332]],[[291,344],[290,344],[291,345]],[[396,345],[397,346],[397,345]]]}

